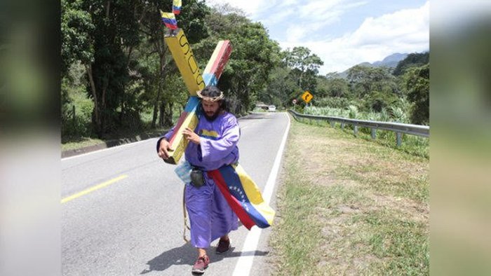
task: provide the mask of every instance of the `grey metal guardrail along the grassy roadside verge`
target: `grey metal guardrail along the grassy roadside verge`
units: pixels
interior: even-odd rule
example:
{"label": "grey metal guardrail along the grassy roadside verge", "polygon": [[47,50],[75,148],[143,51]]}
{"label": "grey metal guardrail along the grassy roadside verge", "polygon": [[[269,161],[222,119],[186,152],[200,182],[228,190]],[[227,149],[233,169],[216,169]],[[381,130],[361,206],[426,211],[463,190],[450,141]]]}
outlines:
{"label": "grey metal guardrail along the grassy roadside verge", "polygon": [[288,109],[288,112],[292,113],[295,119],[298,118],[307,118],[310,120],[327,120],[330,122],[332,126],[334,126],[335,122],[341,123],[341,127],[344,129],[344,125],[353,125],[354,126],[354,135],[358,135],[358,127],[368,127],[372,130],[372,139],[377,137],[377,130],[389,130],[392,132],[396,132],[397,138],[397,146],[401,146],[402,144],[402,134],[411,134],[417,135],[421,137],[429,137],[429,126],[428,125],[410,125],[406,123],[388,123],[388,122],[377,122],[374,120],[354,120],[348,118],[341,117],[333,117],[333,116],[316,116],[316,115],[307,115],[300,114],[291,109]]}

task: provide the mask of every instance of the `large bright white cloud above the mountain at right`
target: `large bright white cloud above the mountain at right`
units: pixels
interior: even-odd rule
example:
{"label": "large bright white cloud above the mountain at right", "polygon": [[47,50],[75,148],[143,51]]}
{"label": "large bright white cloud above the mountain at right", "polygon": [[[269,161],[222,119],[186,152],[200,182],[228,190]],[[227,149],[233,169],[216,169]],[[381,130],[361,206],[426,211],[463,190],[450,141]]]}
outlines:
{"label": "large bright white cloud above the mountain at right", "polygon": [[382,60],[392,53],[428,50],[429,2],[420,8],[367,18],[355,32],[336,39],[281,41],[280,45],[282,48],[308,47],[324,62],[319,70],[321,74]]}

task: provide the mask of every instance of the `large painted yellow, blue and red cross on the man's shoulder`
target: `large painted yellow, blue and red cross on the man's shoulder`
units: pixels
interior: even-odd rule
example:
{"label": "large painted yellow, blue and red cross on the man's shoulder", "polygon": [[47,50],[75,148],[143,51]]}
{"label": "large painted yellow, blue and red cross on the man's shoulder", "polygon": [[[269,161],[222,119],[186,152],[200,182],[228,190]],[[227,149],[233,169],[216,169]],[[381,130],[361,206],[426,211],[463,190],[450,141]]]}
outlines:
{"label": "large painted yellow, blue and red cross on the man's shoulder", "polygon": [[222,75],[222,71],[225,64],[229,61],[229,57],[232,51],[230,41],[219,41],[213,55],[211,55],[208,64],[206,65],[203,75],[198,67],[198,63],[194,59],[193,51],[182,29],[175,29],[173,32],[166,34],[164,37],[170,53],[174,58],[177,68],[179,69],[187,90],[189,91],[189,97],[184,111],[182,111],[173,136],[170,137],[170,151],[169,158],[164,159],[166,163],[177,164],[187,147],[188,141],[184,139],[182,131],[186,127],[194,130],[198,125],[198,117],[196,116],[196,109],[198,108],[200,101],[196,97],[196,91],[202,90],[206,85],[217,85],[218,79]]}

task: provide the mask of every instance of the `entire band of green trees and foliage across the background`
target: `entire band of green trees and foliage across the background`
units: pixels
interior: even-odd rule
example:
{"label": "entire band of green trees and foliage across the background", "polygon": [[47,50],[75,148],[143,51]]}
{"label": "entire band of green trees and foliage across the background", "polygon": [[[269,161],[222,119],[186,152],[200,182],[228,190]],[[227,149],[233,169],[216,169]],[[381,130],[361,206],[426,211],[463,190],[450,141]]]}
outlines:
{"label": "entire band of green trees and foliage across the background", "polygon": [[[411,122],[428,123],[429,67],[421,67],[428,59],[419,54],[401,62],[401,74],[356,66],[347,78],[321,76],[323,61],[315,53],[305,47],[281,50],[242,11],[227,4],[210,8],[202,0],[182,4],[178,25],[201,69],[217,41],[231,41],[234,50],[218,85],[236,114],[256,102],[289,108],[292,99],[303,109],[300,95],[309,90],[316,106],[364,112],[402,108],[401,99],[407,99]],[[170,0],[61,1],[63,141],[175,122],[189,93],[163,41],[167,30],[159,10],[171,6]]]}

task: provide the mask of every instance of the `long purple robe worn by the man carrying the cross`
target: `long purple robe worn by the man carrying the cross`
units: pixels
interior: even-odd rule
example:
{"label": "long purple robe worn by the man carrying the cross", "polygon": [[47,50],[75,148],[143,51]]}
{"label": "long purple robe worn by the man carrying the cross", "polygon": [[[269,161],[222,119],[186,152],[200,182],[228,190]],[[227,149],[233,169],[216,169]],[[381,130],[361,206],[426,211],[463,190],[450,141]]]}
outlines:
{"label": "long purple robe worn by the man carrying the cross", "polygon": [[[240,129],[231,113],[224,112],[213,121],[200,116],[194,132],[199,134],[201,142],[199,145],[189,142],[184,153],[186,160],[194,167],[209,171],[238,161]],[[170,130],[163,137],[169,140],[172,134],[173,130]],[[160,141],[157,142],[157,149]],[[208,174],[203,174],[203,177],[205,184],[200,188],[186,184],[184,198],[191,223],[191,244],[208,248],[213,240],[237,230],[238,219],[213,179]]]}

